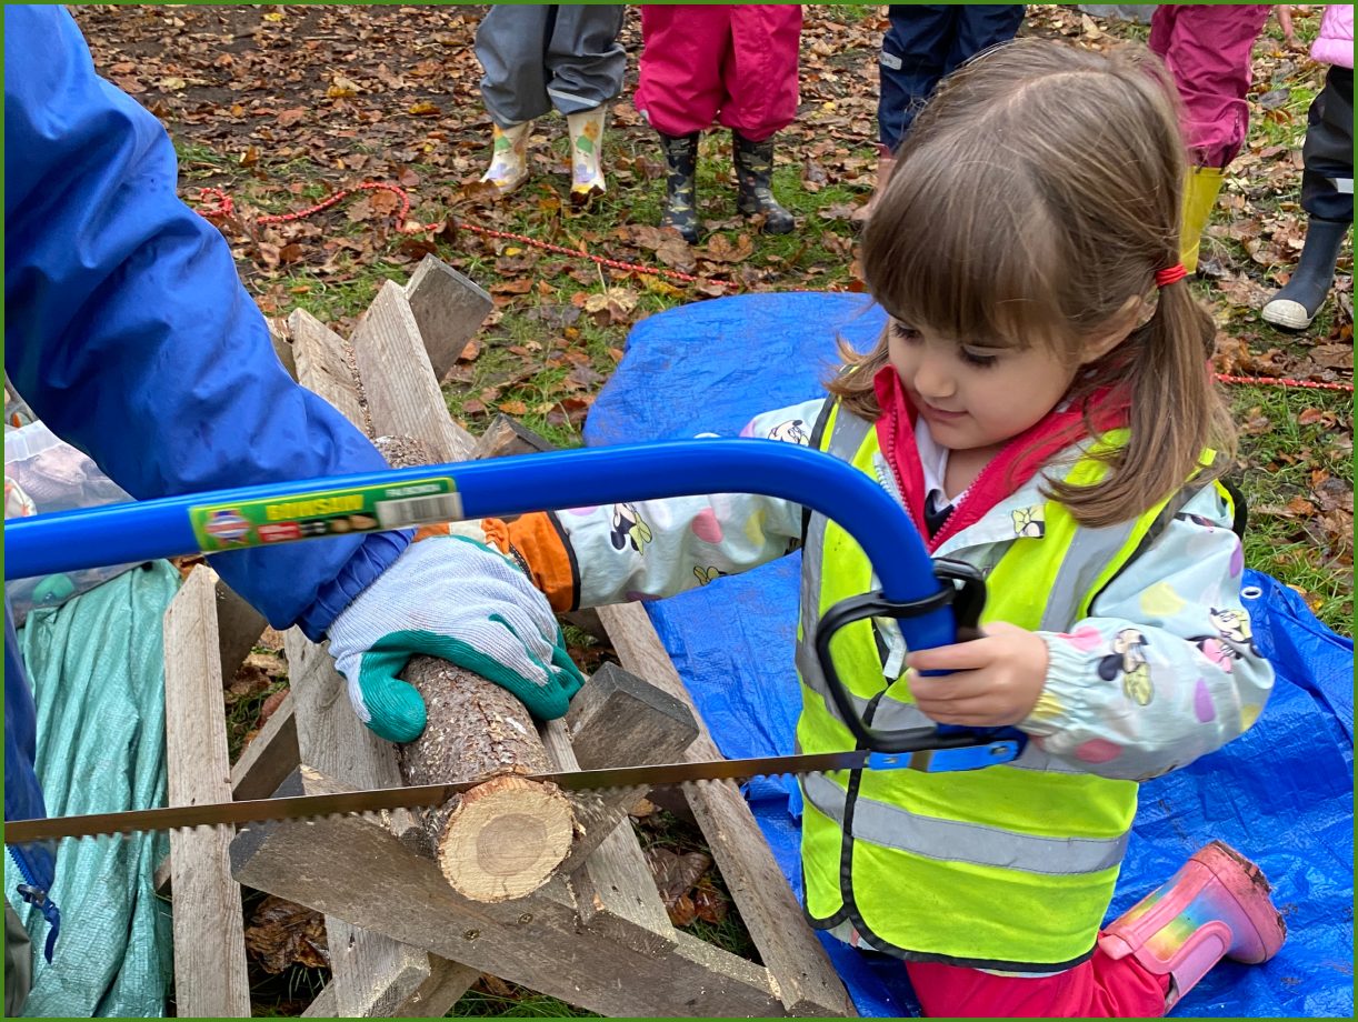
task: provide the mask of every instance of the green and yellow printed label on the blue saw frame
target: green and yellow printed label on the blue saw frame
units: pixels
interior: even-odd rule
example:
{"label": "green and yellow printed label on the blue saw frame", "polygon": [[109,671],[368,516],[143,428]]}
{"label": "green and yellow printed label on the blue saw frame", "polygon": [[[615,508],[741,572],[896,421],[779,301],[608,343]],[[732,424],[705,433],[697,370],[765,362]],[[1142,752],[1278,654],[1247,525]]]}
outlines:
{"label": "green and yellow printed label on the blue saw frame", "polygon": [[193,535],[204,554],[460,518],[462,495],[448,476],[189,509]]}

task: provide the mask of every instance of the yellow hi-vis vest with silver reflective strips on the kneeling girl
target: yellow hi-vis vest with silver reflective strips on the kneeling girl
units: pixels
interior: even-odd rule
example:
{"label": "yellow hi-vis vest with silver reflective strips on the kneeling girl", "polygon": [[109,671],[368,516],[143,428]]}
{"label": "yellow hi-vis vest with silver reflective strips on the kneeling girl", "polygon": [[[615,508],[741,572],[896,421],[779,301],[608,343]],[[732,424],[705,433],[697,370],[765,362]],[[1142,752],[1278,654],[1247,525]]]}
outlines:
{"label": "yellow hi-vis vest with silver reflective strips on the kneeling girl", "polygon": [[[839,406],[830,411],[820,448],[875,474],[876,430]],[[1066,479],[1088,485],[1105,471],[1085,456]],[[1107,528],[1082,527],[1048,501],[1044,535],[1014,539],[990,571],[982,622],[1069,630],[1198,489],[1190,483],[1134,521]],[[812,514],[797,635],[800,752],[854,748],[808,639],[830,607],[873,588],[858,544]],[[933,726],[903,680],[888,685],[883,677],[873,622],[839,631],[832,654],[870,726]],[[807,775],[801,786],[801,860],[813,926],[841,936],[856,931],[873,949],[907,960],[1017,972],[1055,972],[1089,957],[1137,809],[1135,782],[1082,772],[1032,744],[1012,764],[985,770],[857,770]]]}

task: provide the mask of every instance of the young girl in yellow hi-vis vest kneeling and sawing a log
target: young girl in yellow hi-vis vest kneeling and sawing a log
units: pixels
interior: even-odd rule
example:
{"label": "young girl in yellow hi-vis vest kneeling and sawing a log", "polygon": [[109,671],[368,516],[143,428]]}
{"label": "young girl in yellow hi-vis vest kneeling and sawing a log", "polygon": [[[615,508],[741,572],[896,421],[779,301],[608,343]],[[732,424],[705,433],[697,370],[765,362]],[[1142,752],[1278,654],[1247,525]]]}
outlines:
{"label": "young girl in yellow hi-vis vest kneeling and sawing a log", "polygon": [[[1179,265],[1171,86],[1135,53],[1009,43],[945,80],[898,159],[862,247],[889,327],[830,399],[747,433],[850,461],[933,554],[987,578],[976,641],[902,657],[889,627],[841,632],[869,722],[1017,725],[1031,742],[978,771],[803,778],[807,913],[902,958],[930,1015],[1161,1015],[1221,957],[1266,961],[1285,934],[1258,867],[1215,841],[1100,931],[1137,782],[1244,732],[1272,684],[1215,482],[1230,428]],[[482,529],[558,609],[801,543],[797,744],[853,746],[807,646],[823,608],[873,588],[834,523],[714,495]]]}

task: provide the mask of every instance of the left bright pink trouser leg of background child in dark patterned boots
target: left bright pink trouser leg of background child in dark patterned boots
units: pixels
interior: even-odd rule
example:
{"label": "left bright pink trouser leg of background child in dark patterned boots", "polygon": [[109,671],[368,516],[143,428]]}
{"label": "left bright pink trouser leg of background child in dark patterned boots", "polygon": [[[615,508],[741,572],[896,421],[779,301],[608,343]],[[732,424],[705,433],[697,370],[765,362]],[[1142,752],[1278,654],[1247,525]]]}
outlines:
{"label": "left bright pink trouser leg of background child in dark patterned boots", "polygon": [[660,134],[706,130],[725,98],[721,67],[731,48],[731,10],[642,4],[637,110]]}

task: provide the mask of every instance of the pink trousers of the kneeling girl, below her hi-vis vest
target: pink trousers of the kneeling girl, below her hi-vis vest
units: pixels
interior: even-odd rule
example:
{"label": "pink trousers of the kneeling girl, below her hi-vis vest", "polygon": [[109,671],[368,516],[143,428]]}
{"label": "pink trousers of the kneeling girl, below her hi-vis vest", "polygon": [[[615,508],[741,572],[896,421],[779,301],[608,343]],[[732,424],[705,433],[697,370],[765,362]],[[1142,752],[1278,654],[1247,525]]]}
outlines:
{"label": "pink trousers of the kneeling girl, below her hi-vis vest", "polygon": [[933,1018],[1160,1018],[1169,977],[1134,958],[1093,958],[1058,976],[991,976],[979,969],[906,962],[923,1014]]}

